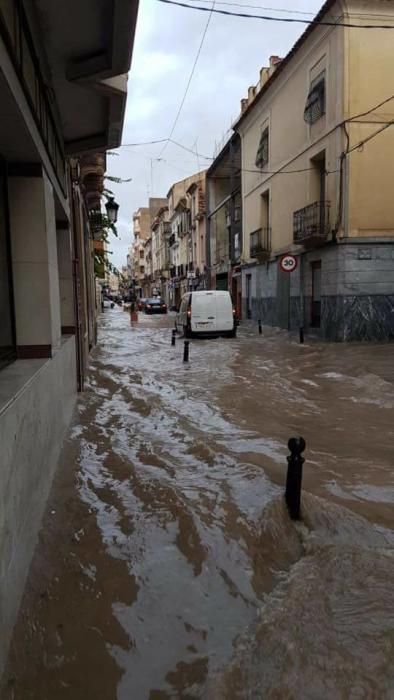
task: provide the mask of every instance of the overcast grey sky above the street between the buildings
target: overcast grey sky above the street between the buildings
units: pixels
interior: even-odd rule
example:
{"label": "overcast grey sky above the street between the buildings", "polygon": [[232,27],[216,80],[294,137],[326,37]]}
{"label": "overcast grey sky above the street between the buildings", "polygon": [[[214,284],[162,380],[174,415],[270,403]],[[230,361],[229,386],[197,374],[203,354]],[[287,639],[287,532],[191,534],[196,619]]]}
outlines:
{"label": "overcast grey sky above the street between the buildings", "polygon": [[[191,2],[192,0],[190,0]],[[235,0],[226,0],[235,2]],[[310,19],[323,0],[238,0],[238,5],[271,7],[309,12]],[[195,5],[211,3],[195,0]],[[239,6],[216,2],[216,7],[239,11]],[[260,12],[275,17],[283,12]],[[133,61],[129,76],[128,101],[123,144],[166,138],[174,122],[208,19],[206,12],[170,6],[158,0],[140,0]],[[283,24],[255,19],[213,15],[196,71],[173,139],[212,156],[215,144],[239,113],[240,99],[249,85],[258,81],[261,66],[271,55],[285,56],[303,24]],[[111,262],[118,268],[126,263],[132,240],[132,215],[146,206],[149,196],[163,197],[173,182],[209,165],[209,160],[169,144],[158,161],[163,144],[121,147],[108,156],[107,173],[130,183],[109,186],[120,204],[119,239],[112,239]]]}

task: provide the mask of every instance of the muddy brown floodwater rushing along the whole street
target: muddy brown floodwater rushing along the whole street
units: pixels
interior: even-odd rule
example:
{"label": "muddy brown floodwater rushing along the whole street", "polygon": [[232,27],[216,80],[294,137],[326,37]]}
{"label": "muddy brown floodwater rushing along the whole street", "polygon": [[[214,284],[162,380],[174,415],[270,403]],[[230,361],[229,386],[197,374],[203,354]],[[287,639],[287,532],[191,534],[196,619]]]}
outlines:
{"label": "muddy brown floodwater rushing along the whole street", "polygon": [[2,697],[392,700],[393,347],[172,323],[103,315]]}

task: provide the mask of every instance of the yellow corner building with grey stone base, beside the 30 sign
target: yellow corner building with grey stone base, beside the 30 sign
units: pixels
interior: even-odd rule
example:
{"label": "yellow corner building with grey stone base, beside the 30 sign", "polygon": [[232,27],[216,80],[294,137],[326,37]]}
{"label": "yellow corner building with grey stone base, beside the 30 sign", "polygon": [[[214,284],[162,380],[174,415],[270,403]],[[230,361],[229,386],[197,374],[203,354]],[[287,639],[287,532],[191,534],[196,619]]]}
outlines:
{"label": "yellow corner building with grey stone base, beside the 30 sign", "polygon": [[244,313],[327,340],[392,339],[394,44],[390,32],[334,25],[391,25],[394,7],[328,0],[317,20],[261,70],[235,124]]}

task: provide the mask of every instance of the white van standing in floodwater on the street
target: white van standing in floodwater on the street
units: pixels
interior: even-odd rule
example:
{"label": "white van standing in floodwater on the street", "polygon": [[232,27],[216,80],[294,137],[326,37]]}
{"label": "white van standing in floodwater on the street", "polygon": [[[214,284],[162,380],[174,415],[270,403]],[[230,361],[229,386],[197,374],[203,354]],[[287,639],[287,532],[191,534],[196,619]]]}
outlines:
{"label": "white van standing in floodwater on the street", "polygon": [[193,335],[229,335],[235,337],[235,309],[229,292],[203,291],[184,294],[176,315],[176,328],[186,338]]}

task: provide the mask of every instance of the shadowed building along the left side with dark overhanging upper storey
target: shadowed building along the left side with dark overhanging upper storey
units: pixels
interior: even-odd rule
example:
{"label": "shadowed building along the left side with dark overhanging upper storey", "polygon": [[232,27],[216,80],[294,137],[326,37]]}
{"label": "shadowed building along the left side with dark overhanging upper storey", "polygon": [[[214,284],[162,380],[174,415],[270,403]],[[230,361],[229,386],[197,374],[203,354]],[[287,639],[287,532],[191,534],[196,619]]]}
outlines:
{"label": "shadowed building along the left side with dark overhanging upper storey", "polygon": [[120,143],[137,8],[0,3],[0,674],[94,342],[80,161]]}

